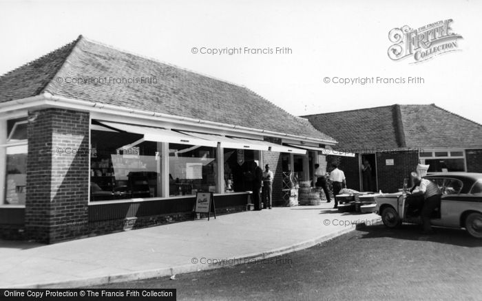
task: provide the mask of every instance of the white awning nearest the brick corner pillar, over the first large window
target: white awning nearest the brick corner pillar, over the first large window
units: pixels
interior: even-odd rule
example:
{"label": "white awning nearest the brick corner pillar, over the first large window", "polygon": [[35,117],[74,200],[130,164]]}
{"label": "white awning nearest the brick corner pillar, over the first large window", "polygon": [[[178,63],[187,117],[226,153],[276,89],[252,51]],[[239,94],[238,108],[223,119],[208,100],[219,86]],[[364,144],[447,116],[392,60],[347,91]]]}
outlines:
{"label": "white awning nearest the brick corner pillar, over the first large window", "polygon": [[177,144],[189,144],[189,145],[200,145],[200,146],[218,146],[218,142],[213,140],[205,140],[198,137],[193,137],[191,135],[185,135],[183,133],[178,133],[175,131],[153,128],[150,126],[135,126],[132,124],[123,124],[118,122],[99,122],[105,126],[109,126],[120,131],[125,131],[128,133],[136,133],[144,135],[141,140],[134,142],[131,146],[139,144],[144,141],[154,141],[154,142],[169,142]]}

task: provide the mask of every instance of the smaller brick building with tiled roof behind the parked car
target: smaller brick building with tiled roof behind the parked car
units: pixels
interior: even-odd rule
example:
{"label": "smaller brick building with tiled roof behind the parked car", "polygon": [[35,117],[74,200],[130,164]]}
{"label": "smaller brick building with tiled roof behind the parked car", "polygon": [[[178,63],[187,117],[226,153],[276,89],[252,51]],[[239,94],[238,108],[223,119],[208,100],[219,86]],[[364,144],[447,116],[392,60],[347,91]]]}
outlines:
{"label": "smaller brick building with tiled roof behind the parked car", "polygon": [[[435,104],[402,105],[307,115],[317,129],[335,138],[348,187],[395,192],[418,164],[428,172],[482,172],[482,125]],[[372,172],[362,172],[364,160]],[[364,179],[364,177],[370,179]],[[368,187],[364,187],[368,186]]]}

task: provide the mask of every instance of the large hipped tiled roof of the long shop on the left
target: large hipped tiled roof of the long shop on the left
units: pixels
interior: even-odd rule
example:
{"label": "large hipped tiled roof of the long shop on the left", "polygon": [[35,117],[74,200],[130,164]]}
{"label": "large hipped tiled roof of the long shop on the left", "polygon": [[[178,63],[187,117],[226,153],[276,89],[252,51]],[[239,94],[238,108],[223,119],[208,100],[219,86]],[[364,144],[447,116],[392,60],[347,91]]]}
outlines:
{"label": "large hipped tiled roof of the long shop on the left", "polygon": [[[58,78],[63,78],[60,82]],[[66,78],[106,78],[85,85]],[[109,83],[109,78],[156,78]],[[333,138],[253,91],[223,80],[136,56],[79,36],[76,41],[0,77],[0,102],[49,92],[90,102],[154,111],[278,133]]]}

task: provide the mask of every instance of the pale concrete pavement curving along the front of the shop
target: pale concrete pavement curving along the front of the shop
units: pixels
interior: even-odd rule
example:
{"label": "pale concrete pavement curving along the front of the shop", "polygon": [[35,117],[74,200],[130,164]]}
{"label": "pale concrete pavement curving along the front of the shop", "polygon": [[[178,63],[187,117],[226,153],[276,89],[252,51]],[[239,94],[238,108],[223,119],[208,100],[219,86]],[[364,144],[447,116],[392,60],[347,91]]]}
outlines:
{"label": "pale concrete pavement curving along the front of the shop", "polygon": [[72,288],[171,276],[279,256],[359,223],[381,223],[376,214],[342,214],[332,204],[240,212],[54,245],[0,240],[0,287]]}

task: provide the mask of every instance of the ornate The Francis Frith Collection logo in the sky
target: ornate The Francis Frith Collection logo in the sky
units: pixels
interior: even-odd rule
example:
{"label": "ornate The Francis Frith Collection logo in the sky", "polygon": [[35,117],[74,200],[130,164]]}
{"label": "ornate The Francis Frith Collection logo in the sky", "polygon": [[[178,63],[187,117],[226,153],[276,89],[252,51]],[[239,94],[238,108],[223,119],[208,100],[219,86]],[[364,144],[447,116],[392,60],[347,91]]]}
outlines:
{"label": "ornate The Francis Frith Collection logo in the sky", "polygon": [[452,19],[437,21],[413,29],[408,25],[394,28],[388,33],[390,42],[388,57],[392,60],[413,58],[412,63],[421,63],[434,56],[460,50],[457,39],[460,34],[452,32]]}

